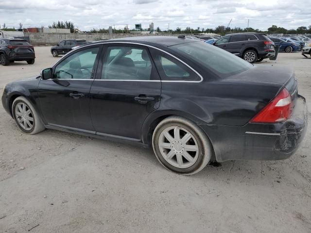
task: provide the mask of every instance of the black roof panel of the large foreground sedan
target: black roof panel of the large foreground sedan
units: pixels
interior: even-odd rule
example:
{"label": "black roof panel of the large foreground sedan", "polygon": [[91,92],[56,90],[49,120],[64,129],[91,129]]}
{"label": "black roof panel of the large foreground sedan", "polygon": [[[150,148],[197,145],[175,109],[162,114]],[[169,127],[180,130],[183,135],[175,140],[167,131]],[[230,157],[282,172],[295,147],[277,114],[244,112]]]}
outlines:
{"label": "black roof panel of the large foreground sedan", "polygon": [[142,43],[142,44],[154,44],[154,45],[162,45],[162,46],[173,46],[184,43],[196,42],[199,40],[193,40],[190,38],[178,38],[177,36],[135,36],[135,37],[124,37],[118,39],[110,39],[110,40],[100,40],[93,42],[93,44],[97,43],[107,43],[107,42],[132,42],[132,43]]}

